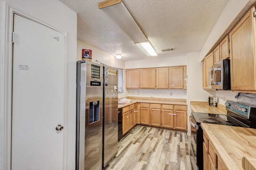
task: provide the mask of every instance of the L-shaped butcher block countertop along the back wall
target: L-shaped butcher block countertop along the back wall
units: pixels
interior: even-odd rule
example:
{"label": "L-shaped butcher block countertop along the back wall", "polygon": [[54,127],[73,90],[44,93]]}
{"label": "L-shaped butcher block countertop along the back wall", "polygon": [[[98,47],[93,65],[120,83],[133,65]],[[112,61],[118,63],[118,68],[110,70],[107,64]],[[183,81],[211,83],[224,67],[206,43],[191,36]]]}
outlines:
{"label": "L-shaped butcher block countertop along the back wall", "polygon": [[187,105],[186,99],[181,98],[153,98],[150,100],[148,97],[129,97],[131,102],[128,104],[118,104],[118,108],[129,106],[134,103],[153,103],[153,104],[173,104],[173,105]]}

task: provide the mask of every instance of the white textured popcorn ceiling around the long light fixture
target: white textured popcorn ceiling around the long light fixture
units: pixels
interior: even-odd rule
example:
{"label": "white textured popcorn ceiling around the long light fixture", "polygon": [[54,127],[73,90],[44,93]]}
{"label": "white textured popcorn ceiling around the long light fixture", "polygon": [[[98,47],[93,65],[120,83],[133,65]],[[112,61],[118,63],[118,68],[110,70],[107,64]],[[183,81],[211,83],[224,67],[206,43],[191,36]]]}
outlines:
{"label": "white textured popcorn ceiling around the long light fixture", "polygon": [[[200,51],[228,0],[122,0],[158,56],[148,57],[102,11],[104,0],[60,0],[77,13],[77,38],[123,61]],[[162,49],[175,48],[162,52]]]}

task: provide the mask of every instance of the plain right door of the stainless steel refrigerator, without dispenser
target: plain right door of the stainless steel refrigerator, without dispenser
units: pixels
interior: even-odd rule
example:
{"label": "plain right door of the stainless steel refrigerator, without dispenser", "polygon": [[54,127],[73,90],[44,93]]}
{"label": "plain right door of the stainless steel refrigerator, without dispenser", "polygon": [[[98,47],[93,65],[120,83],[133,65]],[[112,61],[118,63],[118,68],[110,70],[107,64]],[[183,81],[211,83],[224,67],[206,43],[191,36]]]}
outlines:
{"label": "plain right door of the stainless steel refrigerator, without dispenser", "polygon": [[102,168],[118,151],[118,69],[104,65]]}

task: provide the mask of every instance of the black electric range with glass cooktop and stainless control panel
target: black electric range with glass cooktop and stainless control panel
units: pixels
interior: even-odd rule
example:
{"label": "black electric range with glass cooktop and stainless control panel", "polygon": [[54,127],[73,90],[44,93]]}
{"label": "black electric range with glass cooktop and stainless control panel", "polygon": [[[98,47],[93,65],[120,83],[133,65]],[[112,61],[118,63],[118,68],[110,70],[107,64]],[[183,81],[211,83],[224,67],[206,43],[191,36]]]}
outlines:
{"label": "black electric range with glass cooktop and stainless control panel", "polygon": [[196,113],[190,115],[190,124],[196,128],[191,131],[192,150],[198,170],[203,170],[203,130],[201,123],[249,127],[256,129],[256,107],[234,101],[226,102],[227,115]]}

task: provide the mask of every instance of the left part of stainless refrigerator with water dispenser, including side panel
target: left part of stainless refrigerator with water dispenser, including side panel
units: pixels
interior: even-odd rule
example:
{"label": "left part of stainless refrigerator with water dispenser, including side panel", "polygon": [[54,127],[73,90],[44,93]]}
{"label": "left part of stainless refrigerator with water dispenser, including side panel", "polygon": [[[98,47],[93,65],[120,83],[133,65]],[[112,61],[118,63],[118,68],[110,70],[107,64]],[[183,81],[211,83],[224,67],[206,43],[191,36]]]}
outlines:
{"label": "left part of stainless refrigerator with water dispenser, including side panel", "polygon": [[102,64],[77,62],[76,103],[76,170],[102,170]]}

